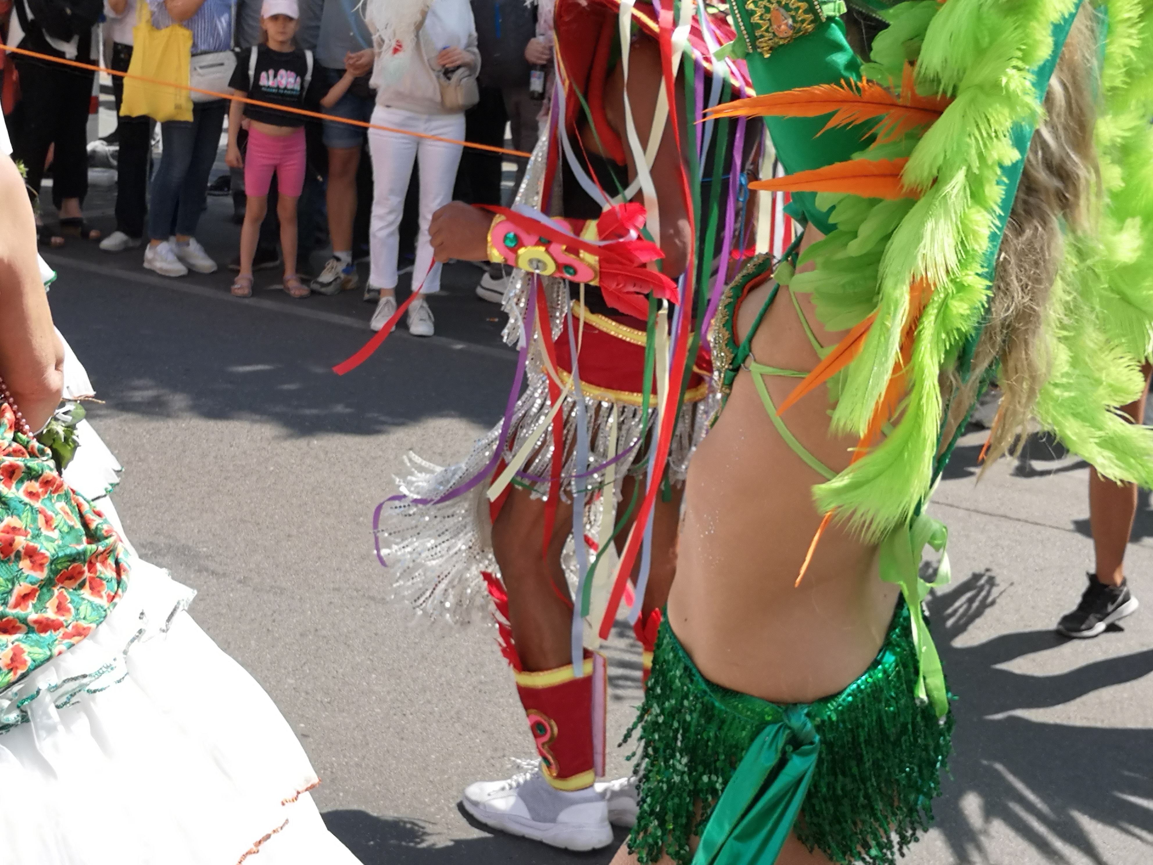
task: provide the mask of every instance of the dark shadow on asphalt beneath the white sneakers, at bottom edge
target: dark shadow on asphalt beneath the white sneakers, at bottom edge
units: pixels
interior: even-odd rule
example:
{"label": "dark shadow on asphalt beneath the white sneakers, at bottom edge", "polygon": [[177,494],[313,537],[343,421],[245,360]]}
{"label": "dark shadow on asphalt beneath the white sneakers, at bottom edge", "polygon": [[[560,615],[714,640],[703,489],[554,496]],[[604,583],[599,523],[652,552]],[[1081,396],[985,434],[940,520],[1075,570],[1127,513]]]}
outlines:
{"label": "dark shadow on asphalt beneath the white sneakers, at bottom edge", "polygon": [[[460,812],[474,828],[490,832],[464,808]],[[626,837],[624,829],[616,829],[616,843],[603,850],[574,853],[500,833],[440,843],[420,820],[374,817],[364,811],[330,811],[324,814],[324,822],[364,865],[604,865]]]}

